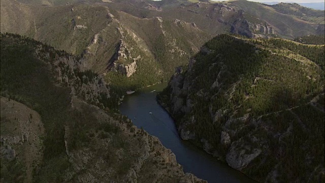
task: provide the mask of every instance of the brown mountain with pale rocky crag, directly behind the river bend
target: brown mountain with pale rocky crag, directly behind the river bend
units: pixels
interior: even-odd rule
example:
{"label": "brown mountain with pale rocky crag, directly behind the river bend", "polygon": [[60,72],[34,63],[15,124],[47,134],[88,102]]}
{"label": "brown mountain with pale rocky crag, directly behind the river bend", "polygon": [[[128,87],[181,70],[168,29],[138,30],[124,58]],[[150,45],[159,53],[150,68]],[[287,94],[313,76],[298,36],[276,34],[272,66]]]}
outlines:
{"label": "brown mountain with pale rocky crag, directly behind the river bend", "polygon": [[[88,60],[85,67],[107,74],[106,81],[118,83],[116,88],[121,90],[168,80],[176,66],[185,64],[211,38],[195,23],[139,18],[106,4],[39,6],[4,1],[1,8],[6,10],[1,11],[2,32],[26,35],[82,55]],[[18,9],[24,22],[16,18]]]}

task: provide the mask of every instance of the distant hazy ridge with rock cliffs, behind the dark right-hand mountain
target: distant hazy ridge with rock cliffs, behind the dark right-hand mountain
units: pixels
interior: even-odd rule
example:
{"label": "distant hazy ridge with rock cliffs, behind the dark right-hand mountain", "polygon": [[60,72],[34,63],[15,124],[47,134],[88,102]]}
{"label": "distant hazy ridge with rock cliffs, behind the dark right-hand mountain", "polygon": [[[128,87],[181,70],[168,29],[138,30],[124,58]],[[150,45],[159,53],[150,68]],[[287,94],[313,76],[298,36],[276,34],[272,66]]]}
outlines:
{"label": "distant hazy ridge with rock cliffs, behind the dark right-hand mountain", "polygon": [[[166,19],[177,18],[186,22],[193,21],[199,28],[212,35],[233,33],[247,37],[294,38],[300,35],[320,34],[324,21],[306,21],[292,14],[283,14],[269,6],[245,0],[228,2],[159,1],[134,2],[115,1],[114,9],[134,16],[160,16]],[[148,10],[148,7],[151,7]],[[299,11],[300,12],[300,11]],[[318,11],[324,17],[323,11]],[[281,21],[279,21],[281,20]],[[320,25],[318,25],[320,24]],[[317,32],[315,28],[319,27]]]}

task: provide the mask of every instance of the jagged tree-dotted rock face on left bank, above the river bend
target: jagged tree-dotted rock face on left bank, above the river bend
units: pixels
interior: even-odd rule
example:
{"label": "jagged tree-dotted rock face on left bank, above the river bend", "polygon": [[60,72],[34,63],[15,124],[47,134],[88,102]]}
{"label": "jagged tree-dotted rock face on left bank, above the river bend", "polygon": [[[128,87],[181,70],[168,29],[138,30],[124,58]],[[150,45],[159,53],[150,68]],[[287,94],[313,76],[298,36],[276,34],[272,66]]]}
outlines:
{"label": "jagged tree-dotted rock face on left bank, above the river bend", "polygon": [[[94,36],[94,40],[98,40],[99,35]],[[90,74],[88,71],[87,60],[77,59],[73,55],[60,57],[51,60],[49,54],[45,54],[42,50],[44,46],[39,45],[35,50],[36,56],[41,60],[49,60],[55,72],[55,79],[63,86],[72,87],[72,94],[76,95],[87,102],[95,104],[101,103],[101,95],[110,98],[110,88],[104,81],[103,76]]]}

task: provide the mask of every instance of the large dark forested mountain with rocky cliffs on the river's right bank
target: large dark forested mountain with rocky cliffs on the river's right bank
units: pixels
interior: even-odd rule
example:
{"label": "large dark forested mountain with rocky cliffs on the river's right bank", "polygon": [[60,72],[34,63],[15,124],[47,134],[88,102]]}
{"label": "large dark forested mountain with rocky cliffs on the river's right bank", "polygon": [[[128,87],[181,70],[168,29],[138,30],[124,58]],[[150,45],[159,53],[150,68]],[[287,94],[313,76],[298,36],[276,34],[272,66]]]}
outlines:
{"label": "large dark forested mountain with rocky cliffs on the river's right bank", "polygon": [[324,181],[324,45],[219,35],[159,94],[182,139],[260,182]]}

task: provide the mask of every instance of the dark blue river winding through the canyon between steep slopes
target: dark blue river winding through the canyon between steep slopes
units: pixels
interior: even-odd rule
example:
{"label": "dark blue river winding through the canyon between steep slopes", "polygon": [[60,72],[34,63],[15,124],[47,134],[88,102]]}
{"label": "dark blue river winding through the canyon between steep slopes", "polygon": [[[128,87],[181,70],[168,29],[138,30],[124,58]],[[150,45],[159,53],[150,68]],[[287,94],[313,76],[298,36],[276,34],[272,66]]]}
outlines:
{"label": "dark blue river winding through the canyon between steep slopes", "polygon": [[156,84],[125,96],[119,107],[121,113],[171,149],[184,172],[193,173],[211,183],[256,182],[179,137],[172,117],[156,101],[156,92],[166,86],[167,83]]}

